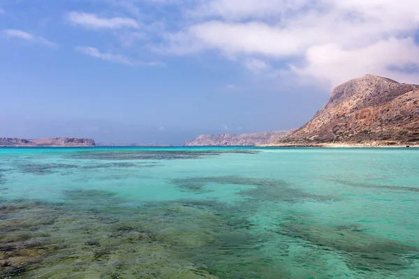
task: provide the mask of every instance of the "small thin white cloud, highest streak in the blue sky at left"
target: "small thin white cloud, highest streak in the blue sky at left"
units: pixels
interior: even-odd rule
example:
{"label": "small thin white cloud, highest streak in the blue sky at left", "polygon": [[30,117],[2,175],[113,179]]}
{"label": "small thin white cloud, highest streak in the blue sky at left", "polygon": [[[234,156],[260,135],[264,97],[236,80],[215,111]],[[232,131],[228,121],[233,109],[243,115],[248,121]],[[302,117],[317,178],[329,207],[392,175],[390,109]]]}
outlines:
{"label": "small thin white cloud, highest streak in the blue sky at left", "polygon": [[90,29],[138,28],[138,22],[130,17],[99,17],[94,13],[70,12],[67,20]]}

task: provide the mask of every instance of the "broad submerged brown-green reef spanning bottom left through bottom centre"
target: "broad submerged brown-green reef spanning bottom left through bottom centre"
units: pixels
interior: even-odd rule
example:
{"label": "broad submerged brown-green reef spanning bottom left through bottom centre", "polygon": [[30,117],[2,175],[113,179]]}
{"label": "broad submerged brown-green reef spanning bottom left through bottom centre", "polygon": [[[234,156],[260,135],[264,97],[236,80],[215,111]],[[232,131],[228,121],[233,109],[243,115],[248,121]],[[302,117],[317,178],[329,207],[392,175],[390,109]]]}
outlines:
{"label": "broad submerged brown-green reef spanning bottom left through bottom centre", "polygon": [[249,234],[251,222],[230,216],[224,204],[185,200],[135,210],[115,207],[108,199],[112,193],[76,190],[67,195],[99,197],[108,204],[94,212],[35,202],[3,204],[0,254],[7,255],[0,264],[7,270],[0,269],[0,278],[15,276],[20,267],[19,274],[27,278],[65,278],[74,272],[84,278],[242,278],[255,269],[267,270],[253,278],[267,278],[267,273],[274,278],[278,271],[266,257],[250,252],[260,248],[260,236]]}

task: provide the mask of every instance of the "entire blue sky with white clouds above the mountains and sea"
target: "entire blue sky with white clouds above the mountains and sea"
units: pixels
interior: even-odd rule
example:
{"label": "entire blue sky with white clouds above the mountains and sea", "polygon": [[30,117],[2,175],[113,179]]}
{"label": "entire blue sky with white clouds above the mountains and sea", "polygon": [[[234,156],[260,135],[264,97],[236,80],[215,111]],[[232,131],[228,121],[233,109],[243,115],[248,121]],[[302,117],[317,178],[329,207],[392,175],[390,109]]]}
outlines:
{"label": "entire blue sky with white clouds above the mountains and sea", "polygon": [[419,84],[419,1],[0,0],[0,137],[288,130],[366,74]]}

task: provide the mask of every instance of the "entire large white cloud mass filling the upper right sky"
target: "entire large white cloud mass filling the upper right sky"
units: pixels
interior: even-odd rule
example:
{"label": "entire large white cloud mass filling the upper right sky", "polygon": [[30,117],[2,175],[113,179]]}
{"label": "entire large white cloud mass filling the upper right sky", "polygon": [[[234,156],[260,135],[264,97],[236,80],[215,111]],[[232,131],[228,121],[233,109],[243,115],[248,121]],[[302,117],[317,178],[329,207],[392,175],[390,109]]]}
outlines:
{"label": "entire large white cloud mass filling the upper right sky", "polygon": [[402,70],[419,66],[419,47],[413,39],[419,1],[196,3],[186,13],[186,25],[165,33],[164,43],[153,50],[177,55],[217,50],[254,73],[293,74],[328,87],[366,73],[419,82],[419,75]]}

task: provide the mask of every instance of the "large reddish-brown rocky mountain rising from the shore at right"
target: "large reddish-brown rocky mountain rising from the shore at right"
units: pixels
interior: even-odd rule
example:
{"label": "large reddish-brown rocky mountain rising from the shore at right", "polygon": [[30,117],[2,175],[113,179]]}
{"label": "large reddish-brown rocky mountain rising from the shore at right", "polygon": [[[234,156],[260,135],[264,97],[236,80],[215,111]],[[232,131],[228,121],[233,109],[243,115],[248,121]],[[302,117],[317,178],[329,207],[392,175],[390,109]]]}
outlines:
{"label": "large reddish-brown rocky mountain rising from the shore at right", "polygon": [[419,144],[419,85],[366,75],[337,86],[329,102],[271,145]]}

